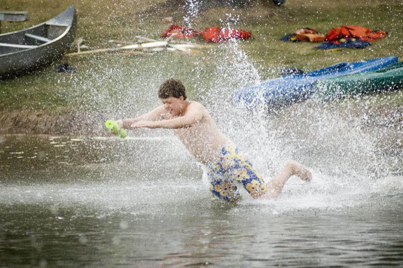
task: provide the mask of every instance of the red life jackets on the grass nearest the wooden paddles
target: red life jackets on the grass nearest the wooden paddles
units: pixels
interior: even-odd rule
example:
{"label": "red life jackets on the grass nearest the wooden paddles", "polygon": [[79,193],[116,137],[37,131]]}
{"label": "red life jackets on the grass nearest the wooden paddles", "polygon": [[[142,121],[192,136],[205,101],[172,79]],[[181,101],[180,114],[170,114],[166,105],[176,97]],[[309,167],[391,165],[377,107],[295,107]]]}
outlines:
{"label": "red life jackets on the grass nearest the wooden paddles", "polygon": [[162,37],[187,39],[195,36],[201,36],[206,42],[221,43],[230,39],[246,40],[250,38],[250,32],[244,30],[226,29],[219,27],[205,28],[204,31],[195,30],[188,27],[182,27],[179,25],[169,26],[162,34]]}

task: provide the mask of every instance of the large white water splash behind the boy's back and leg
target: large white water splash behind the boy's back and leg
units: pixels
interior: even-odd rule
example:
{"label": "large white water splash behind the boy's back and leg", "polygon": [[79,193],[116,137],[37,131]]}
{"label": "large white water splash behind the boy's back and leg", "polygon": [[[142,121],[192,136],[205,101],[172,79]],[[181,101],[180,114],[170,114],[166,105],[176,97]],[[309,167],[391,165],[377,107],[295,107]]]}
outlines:
{"label": "large white water splash behind the boy's back and leg", "polygon": [[[259,83],[273,69],[263,70],[236,41],[220,48],[224,51],[212,52],[218,59],[218,73],[204,100],[220,128],[249,155],[266,180],[287,159],[304,163],[314,174],[309,186],[290,180],[279,210],[349,207],[365,202],[371,193],[401,191],[395,178],[401,176],[401,159],[384,153],[380,141],[385,128],[367,125],[365,100],[336,105],[311,100],[277,113],[264,108],[246,112],[230,104],[229,93]],[[394,182],[392,190],[385,187],[387,181]]]}

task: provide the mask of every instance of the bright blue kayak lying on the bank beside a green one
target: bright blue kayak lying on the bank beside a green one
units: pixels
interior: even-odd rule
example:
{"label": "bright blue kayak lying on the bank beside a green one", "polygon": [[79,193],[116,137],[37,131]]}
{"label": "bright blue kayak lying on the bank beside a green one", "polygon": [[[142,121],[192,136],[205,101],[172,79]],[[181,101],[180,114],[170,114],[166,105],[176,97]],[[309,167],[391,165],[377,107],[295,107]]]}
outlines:
{"label": "bright blue kayak lying on the bank beside a green one", "polygon": [[244,87],[232,92],[235,104],[247,109],[265,104],[282,107],[308,99],[312,94],[312,83],[319,79],[337,77],[359,72],[375,71],[397,63],[397,57],[382,57],[356,62],[341,62],[322,69],[305,73],[288,74]]}

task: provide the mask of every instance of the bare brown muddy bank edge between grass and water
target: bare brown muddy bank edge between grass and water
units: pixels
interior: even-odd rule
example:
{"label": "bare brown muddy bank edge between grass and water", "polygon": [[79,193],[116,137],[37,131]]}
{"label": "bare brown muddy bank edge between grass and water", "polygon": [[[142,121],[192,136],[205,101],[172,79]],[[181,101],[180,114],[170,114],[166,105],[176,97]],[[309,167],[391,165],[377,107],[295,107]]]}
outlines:
{"label": "bare brown muddy bank edge between grass and water", "polygon": [[[367,130],[372,127],[388,128],[395,131],[396,138],[403,133],[403,106],[373,106],[365,111],[366,117],[362,118],[362,109],[351,108],[341,113],[355,114],[363,120],[363,126]],[[0,134],[47,134],[47,135],[108,135],[102,122],[108,115],[102,112],[68,112],[50,113],[41,110],[3,110],[0,111]],[[401,137],[403,138],[403,137]]]}

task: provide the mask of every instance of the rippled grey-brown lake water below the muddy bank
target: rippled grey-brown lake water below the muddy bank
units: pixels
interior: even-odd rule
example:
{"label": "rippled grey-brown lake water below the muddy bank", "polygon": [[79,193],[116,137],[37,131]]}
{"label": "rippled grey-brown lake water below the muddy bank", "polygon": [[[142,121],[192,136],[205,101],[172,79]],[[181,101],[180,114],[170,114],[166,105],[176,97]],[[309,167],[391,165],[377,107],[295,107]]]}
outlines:
{"label": "rippled grey-brown lake water below the muddy bank", "polygon": [[313,170],[316,180],[292,178],[276,201],[231,204],[212,199],[170,136],[0,144],[0,266],[403,263],[398,176],[351,189]]}

